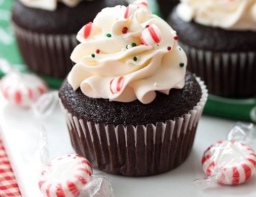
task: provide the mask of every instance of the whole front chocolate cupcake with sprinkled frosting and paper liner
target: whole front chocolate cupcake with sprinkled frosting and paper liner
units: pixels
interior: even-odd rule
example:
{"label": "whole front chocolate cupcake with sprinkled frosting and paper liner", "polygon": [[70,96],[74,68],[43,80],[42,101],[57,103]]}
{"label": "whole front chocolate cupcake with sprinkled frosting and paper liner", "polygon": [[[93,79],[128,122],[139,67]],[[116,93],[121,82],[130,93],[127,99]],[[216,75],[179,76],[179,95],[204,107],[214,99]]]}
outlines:
{"label": "whole front chocolate cupcake with sprinkled frosting and paper liner", "polygon": [[93,167],[149,176],[189,155],[207,90],[177,38],[146,1],[105,8],[77,34],[59,97],[72,145]]}

